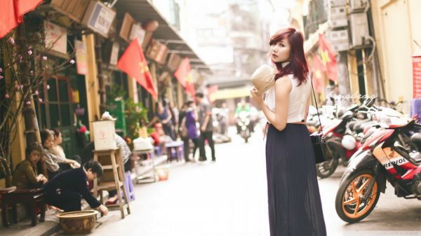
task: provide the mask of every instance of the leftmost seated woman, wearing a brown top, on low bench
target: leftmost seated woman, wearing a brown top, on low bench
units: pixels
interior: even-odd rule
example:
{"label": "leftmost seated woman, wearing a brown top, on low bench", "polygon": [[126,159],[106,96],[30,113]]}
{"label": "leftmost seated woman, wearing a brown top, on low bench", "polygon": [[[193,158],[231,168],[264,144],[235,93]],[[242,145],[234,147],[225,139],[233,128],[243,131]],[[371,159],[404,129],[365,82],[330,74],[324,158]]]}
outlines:
{"label": "leftmost seated woman, wearing a brown top, on low bench", "polygon": [[16,188],[41,188],[47,178],[36,171],[36,163],[42,155],[39,143],[29,144],[25,151],[26,158],[18,164],[12,176],[12,184]]}

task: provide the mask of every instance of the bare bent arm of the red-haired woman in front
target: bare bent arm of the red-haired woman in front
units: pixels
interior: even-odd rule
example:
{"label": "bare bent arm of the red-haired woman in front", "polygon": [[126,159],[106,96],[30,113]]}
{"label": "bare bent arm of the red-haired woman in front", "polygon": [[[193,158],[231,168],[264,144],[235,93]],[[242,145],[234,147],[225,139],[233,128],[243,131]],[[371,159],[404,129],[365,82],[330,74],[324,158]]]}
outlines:
{"label": "bare bent arm of the red-haired woman in front", "polygon": [[276,130],[283,130],[286,127],[286,119],[288,117],[289,93],[292,84],[288,76],[278,78],[275,83],[275,111],[271,111],[263,102],[263,95],[257,95],[255,88],[251,91],[251,98],[258,104],[260,109],[265,113],[269,123],[272,123]]}

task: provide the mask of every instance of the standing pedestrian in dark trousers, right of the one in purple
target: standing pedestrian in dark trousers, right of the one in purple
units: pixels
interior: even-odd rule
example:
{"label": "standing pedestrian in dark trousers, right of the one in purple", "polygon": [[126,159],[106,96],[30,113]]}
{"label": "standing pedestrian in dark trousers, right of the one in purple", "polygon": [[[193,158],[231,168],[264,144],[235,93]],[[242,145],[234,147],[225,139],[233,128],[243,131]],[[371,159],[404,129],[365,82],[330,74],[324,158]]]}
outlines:
{"label": "standing pedestrian in dark trousers, right of the one in purple", "polygon": [[212,151],[212,161],[215,162],[215,144],[213,142],[213,122],[210,104],[203,99],[203,92],[196,92],[194,99],[197,104],[197,120],[199,121],[200,137],[199,137],[199,160],[205,161],[205,140],[208,141],[210,151]]}

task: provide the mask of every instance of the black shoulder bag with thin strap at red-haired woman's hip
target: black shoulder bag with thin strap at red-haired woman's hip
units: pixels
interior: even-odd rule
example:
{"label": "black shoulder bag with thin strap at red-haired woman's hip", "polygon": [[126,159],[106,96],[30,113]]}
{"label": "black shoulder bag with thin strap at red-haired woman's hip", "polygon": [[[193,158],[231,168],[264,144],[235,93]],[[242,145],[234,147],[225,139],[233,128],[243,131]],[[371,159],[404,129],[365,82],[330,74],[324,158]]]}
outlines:
{"label": "black shoulder bag with thin strap at red-haired woman's hip", "polygon": [[321,162],[325,162],[326,160],[328,160],[328,157],[327,157],[328,148],[326,146],[326,139],[323,136],[323,129],[321,127],[321,120],[319,116],[319,107],[317,106],[316,93],[314,92],[313,81],[311,78],[310,78],[310,81],[312,83],[313,97],[314,97],[314,102],[316,103],[317,116],[319,117],[319,123],[320,123],[320,132],[314,132],[313,134],[310,134],[310,138],[312,139],[314,157],[316,158],[316,164],[319,164]]}

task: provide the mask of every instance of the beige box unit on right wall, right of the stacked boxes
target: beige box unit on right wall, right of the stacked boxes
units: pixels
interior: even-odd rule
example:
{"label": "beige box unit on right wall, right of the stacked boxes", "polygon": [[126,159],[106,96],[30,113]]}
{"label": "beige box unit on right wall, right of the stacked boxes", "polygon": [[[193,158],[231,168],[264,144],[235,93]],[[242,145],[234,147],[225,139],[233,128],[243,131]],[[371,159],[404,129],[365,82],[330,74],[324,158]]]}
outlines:
{"label": "beige box unit on right wall, right of the stacked boxes", "polygon": [[364,39],[370,35],[366,13],[352,13],[349,15],[349,27],[351,28],[352,46],[362,46]]}

